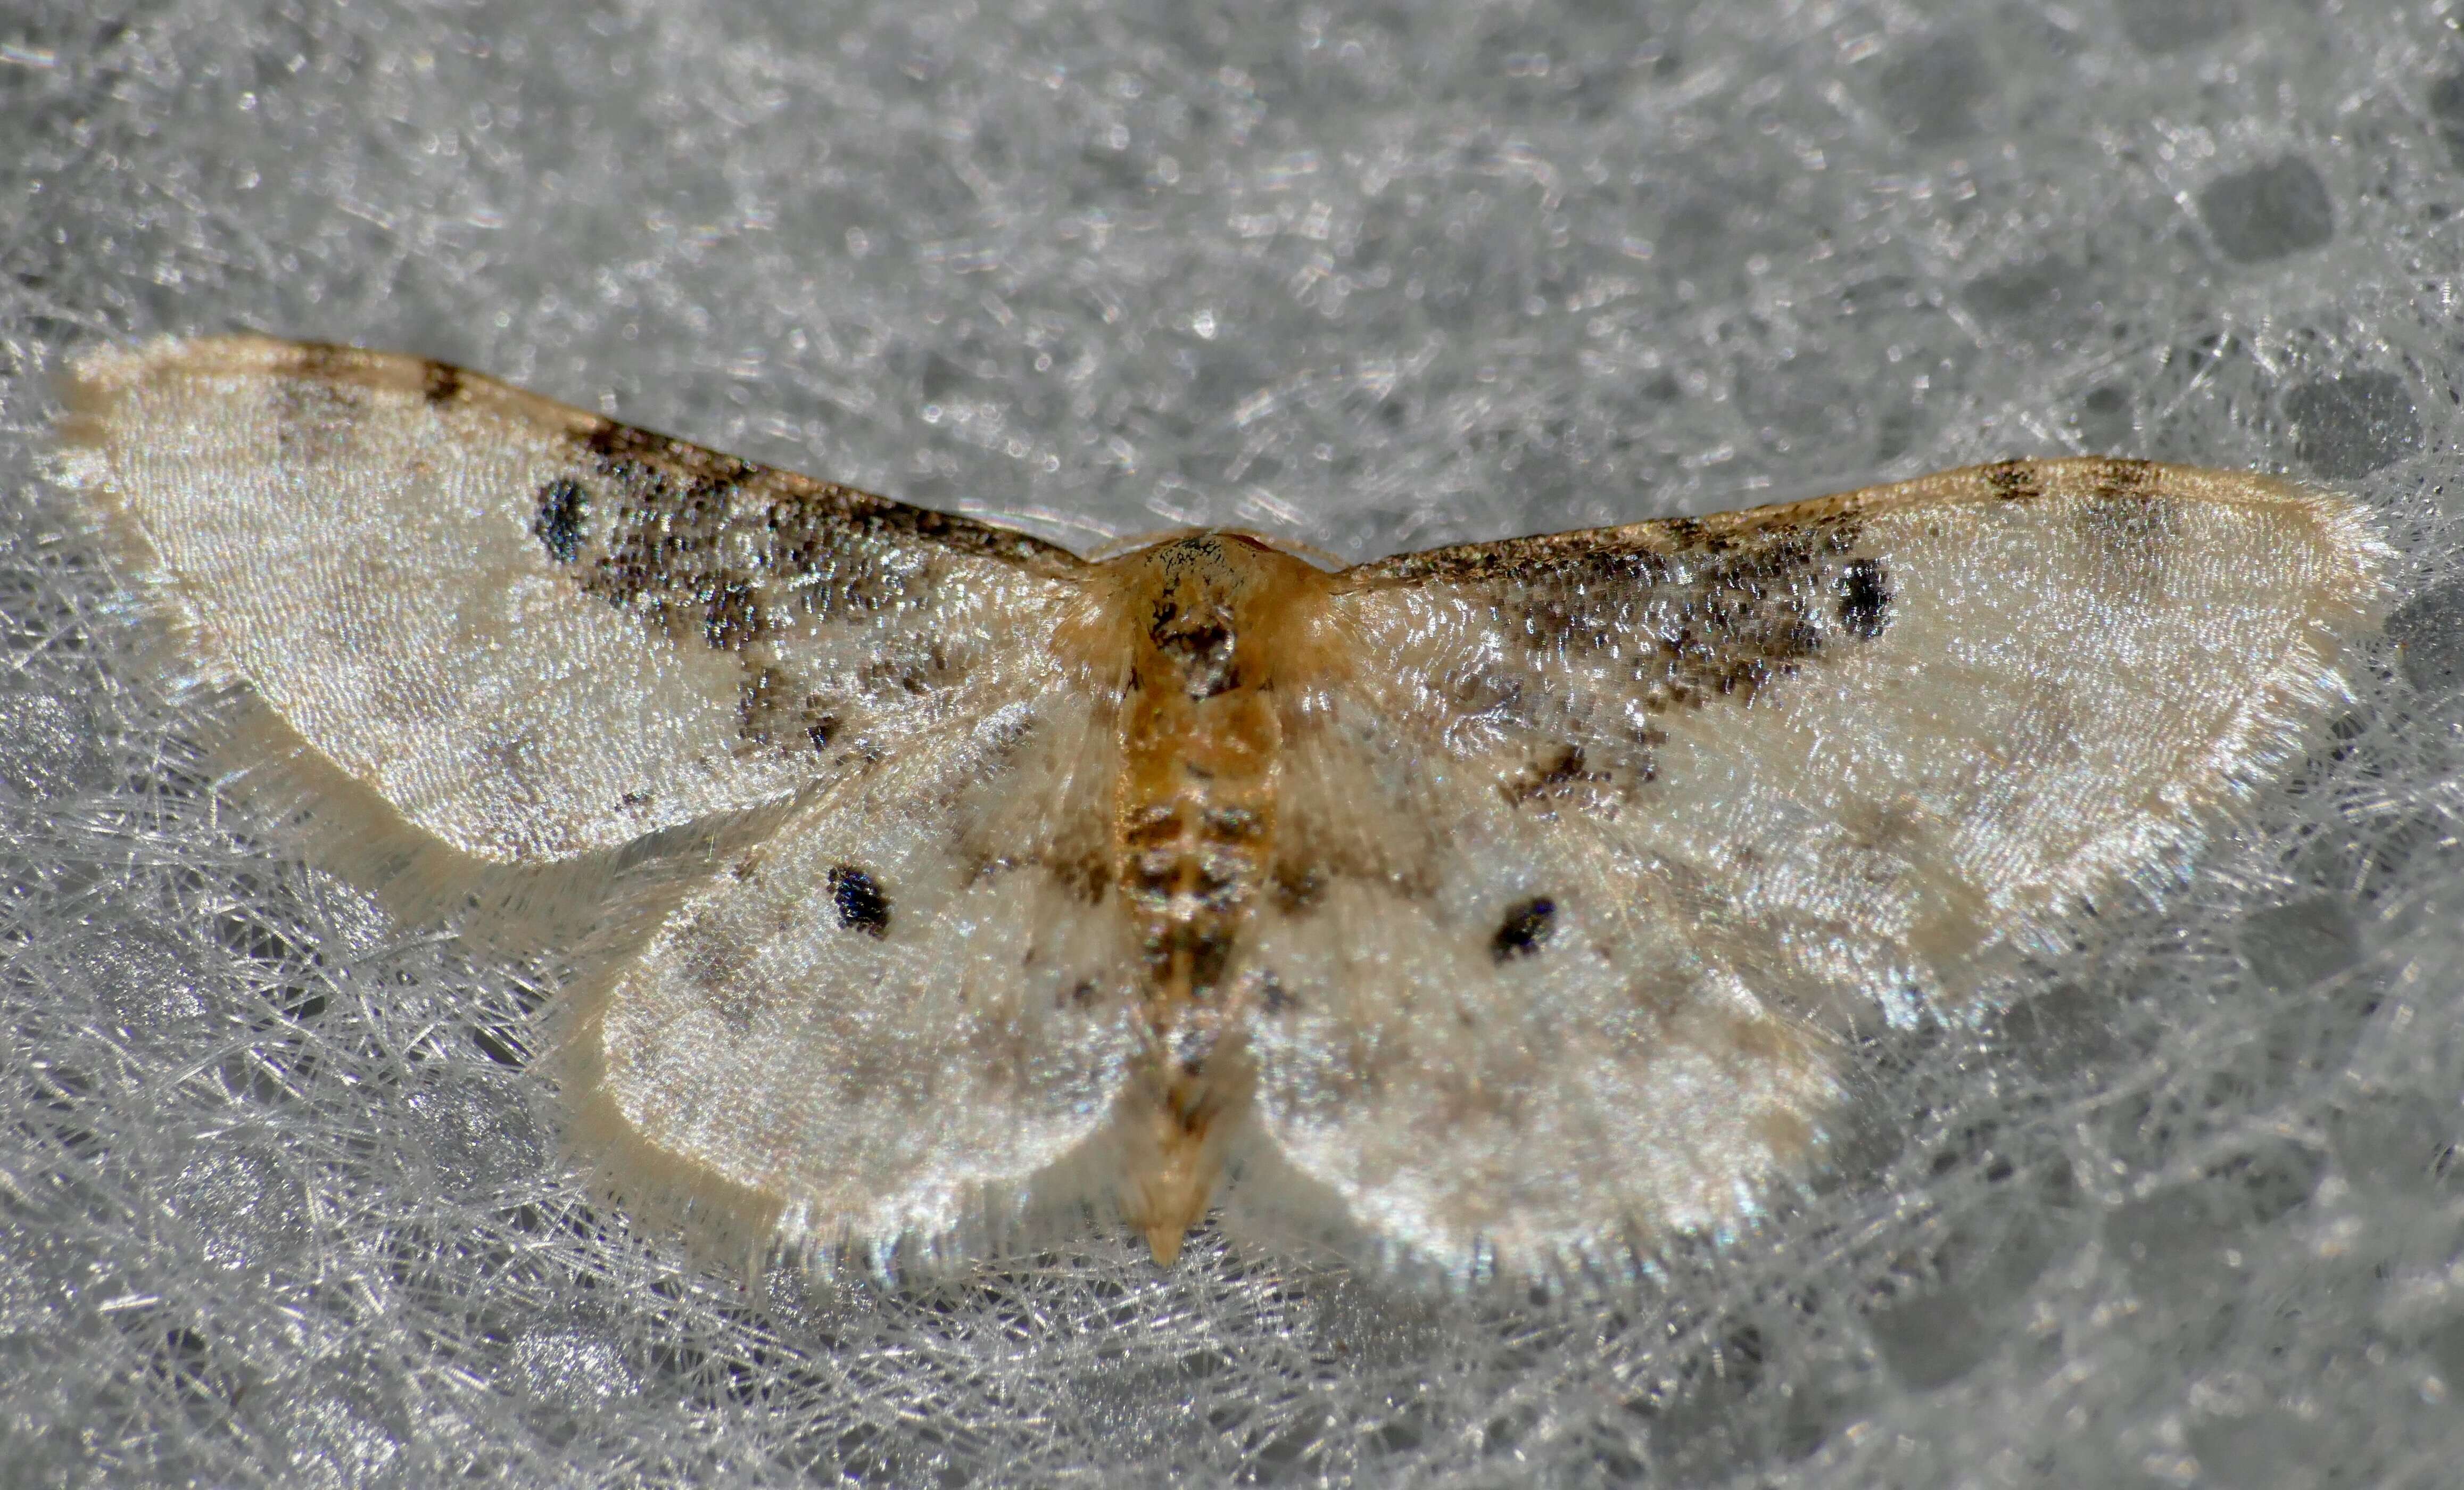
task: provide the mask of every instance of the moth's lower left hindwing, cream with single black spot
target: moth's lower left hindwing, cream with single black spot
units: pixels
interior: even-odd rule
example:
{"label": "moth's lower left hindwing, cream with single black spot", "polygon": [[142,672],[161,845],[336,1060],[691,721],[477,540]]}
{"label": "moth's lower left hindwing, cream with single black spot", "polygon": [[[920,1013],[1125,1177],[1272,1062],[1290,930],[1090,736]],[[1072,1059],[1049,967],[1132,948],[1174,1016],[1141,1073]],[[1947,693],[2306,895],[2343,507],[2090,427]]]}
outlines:
{"label": "moth's lower left hindwing, cream with single black spot", "polygon": [[609,1187],[705,1241],[875,1271],[1106,1190],[1089,1140],[1136,1049],[1109,746],[1087,695],[995,709],[685,894],[562,1032]]}

